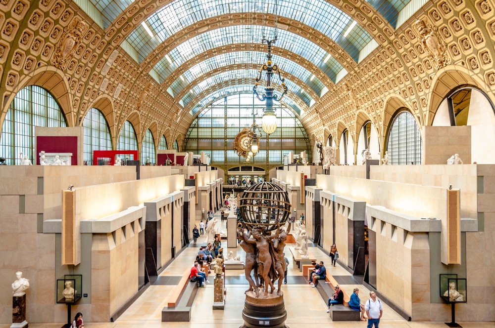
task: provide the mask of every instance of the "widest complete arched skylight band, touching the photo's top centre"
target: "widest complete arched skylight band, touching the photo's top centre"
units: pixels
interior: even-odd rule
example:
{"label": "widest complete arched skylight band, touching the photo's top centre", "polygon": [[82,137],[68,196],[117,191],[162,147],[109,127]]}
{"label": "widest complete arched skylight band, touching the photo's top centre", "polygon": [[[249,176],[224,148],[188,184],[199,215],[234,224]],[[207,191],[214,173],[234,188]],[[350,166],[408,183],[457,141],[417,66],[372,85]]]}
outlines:
{"label": "widest complete arched skylight band, touching the photo's top centre", "polygon": [[[261,5],[260,2],[250,3],[240,0],[176,0],[151,14],[145,21],[153,37],[150,37],[144,27],[139,25],[126,40],[143,60],[158,44],[197,21],[241,12],[274,14],[273,3],[266,3],[265,8]],[[344,48],[356,62],[359,51],[372,39],[360,25],[355,26],[344,38],[344,33],[353,20],[326,1],[278,0],[277,7],[279,16],[299,21],[324,34]],[[261,38],[262,35],[256,37]]]}

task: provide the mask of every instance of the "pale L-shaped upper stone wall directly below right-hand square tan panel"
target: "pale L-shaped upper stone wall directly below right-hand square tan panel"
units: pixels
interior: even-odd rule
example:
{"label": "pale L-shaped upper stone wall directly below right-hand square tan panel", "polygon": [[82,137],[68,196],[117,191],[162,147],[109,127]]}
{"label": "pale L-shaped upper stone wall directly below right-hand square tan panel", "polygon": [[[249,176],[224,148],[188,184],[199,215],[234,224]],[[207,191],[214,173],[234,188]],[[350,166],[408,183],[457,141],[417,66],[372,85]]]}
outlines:
{"label": "pale L-shaped upper stone wall directly below right-hand square tan panel", "polygon": [[370,168],[370,178],[444,188],[451,184],[452,188],[461,191],[461,217],[476,218],[478,166],[480,165],[373,165]]}

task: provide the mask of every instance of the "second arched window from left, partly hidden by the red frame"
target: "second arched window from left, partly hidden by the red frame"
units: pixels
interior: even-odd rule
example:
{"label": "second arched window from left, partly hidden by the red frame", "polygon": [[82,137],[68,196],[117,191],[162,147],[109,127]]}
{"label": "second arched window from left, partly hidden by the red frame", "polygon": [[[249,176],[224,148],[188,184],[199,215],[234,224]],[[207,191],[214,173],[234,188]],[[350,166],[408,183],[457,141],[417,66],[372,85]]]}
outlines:
{"label": "second arched window from left, partly hidden by the red frame", "polygon": [[84,164],[93,164],[94,150],[112,150],[110,129],[99,109],[91,108],[83,121]]}

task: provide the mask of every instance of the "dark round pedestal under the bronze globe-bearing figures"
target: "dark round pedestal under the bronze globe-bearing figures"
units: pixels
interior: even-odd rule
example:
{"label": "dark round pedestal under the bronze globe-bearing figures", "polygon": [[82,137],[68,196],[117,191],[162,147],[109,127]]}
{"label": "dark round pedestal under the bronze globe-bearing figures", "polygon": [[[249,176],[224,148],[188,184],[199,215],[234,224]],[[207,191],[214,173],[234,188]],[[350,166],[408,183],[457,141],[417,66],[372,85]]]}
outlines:
{"label": "dark round pedestal under the bronze globe-bearing figures", "polygon": [[268,294],[263,298],[264,291],[259,291],[259,297],[256,298],[254,291],[246,292],[246,301],[244,302],[243,319],[244,325],[241,328],[287,328],[285,320],[287,311],[285,310],[284,293],[277,295],[276,292]]}

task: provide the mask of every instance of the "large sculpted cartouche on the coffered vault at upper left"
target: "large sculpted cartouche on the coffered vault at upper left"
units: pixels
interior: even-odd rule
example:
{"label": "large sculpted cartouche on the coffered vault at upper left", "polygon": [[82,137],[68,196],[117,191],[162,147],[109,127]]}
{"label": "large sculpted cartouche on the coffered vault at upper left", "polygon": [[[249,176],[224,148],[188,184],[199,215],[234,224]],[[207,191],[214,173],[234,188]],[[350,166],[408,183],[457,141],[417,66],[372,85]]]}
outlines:
{"label": "large sculpted cartouche on the coffered vault at upper left", "polygon": [[86,23],[75,19],[65,27],[60,40],[55,45],[55,51],[51,57],[51,64],[61,70],[65,70],[70,60],[74,57],[74,51],[81,42]]}

